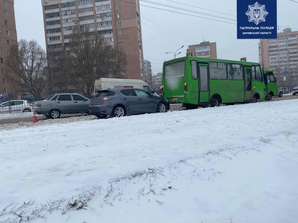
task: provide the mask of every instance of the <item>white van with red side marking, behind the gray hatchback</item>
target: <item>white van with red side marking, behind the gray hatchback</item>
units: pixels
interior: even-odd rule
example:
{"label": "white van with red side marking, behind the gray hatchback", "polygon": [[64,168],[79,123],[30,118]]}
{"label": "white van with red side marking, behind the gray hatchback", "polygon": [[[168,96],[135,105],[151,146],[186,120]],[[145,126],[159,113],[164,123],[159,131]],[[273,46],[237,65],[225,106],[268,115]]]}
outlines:
{"label": "white van with red side marking, behind the gray hatchback", "polygon": [[116,78],[100,78],[95,80],[94,95],[99,90],[109,90],[114,88],[140,88],[155,96],[159,96],[149,85],[142,80],[133,79],[116,79]]}

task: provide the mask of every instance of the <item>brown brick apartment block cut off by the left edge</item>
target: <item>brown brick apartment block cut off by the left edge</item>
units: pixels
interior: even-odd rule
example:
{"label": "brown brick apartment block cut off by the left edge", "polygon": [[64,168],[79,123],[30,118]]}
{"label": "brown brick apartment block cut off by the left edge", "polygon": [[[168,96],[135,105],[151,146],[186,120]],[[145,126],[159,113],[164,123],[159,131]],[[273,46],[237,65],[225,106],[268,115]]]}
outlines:
{"label": "brown brick apartment block cut off by the left edge", "polygon": [[[13,81],[7,77],[7,74],[12,74],[12,72],[7,67],[6,61],[11,45],[17,42],[14,0],[3,0],[0,4],[0,94],[2,96],[9,94],[13,98],[16,96],[16,89]],[[0,98],[0,101],[2,99],[3,97]]]}

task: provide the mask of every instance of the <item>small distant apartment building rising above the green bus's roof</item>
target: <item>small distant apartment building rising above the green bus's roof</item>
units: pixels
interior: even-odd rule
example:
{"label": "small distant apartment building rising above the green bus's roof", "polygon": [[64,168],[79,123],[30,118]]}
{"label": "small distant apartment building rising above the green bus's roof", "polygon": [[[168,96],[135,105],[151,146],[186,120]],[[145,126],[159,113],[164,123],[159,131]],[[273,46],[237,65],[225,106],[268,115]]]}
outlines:
{"label": "small distant apartment building rising above the green bus's roof", "polygon": [[201,42],[200,44],[188,46],[187,52],[191,52],[192,56],[217,58],[216,42]]}

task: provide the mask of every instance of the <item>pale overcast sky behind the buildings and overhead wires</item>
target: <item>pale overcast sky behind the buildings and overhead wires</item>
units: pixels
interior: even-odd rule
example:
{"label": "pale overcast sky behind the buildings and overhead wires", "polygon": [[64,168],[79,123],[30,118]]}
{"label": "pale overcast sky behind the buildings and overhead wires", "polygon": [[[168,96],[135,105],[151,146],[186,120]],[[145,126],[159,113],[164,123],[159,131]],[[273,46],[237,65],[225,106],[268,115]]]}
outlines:
{"label": "pale overcast sky behind the buildings and overhead wires", "polygon": [[[177,4],[168,0],[152,1],[230,19],[236,19],[237,14],[236,0],[171,0],[174,2],[183,2],[191,6]],[[298,31],[298,3],[290,0],[278,0],[277,2],[277,24],[281,29],[289,26],[292,27],[292,31]],[[223,20],[221,18],[181,11],[143,1],[140,1],[140,4]],[[240,57],[247,57],[248,61],[259,62],[259,40],[237,40],[237,27],[235,24],[228,24],[190,15],[182,15],[145,6],[140,6],[140,8],[144,49],[143,55],[144,59],[147,59],[152,63],[152,73],[154,74],[162,71],[163,61],[173,59],[173,54],[165,54],[165,52],[175,52],[182,45],[185,45],[180,54],[181,56],[185,56],[187,46],[203,42],[203,36],[205,41],[217,43],[218,58],[239,60]],[[212,11],[207,11],[201,8]],[[219,12],[229,15],[220,14]],[[28,1],[15,0],[15,15],[18,40],[35,39],[45,48],[46,44],[41,1],[30,0],[30,4],[28,4]],[[236,23],[232,20],[225,21]],[[278,31],[281,32],[280,30]]]}

